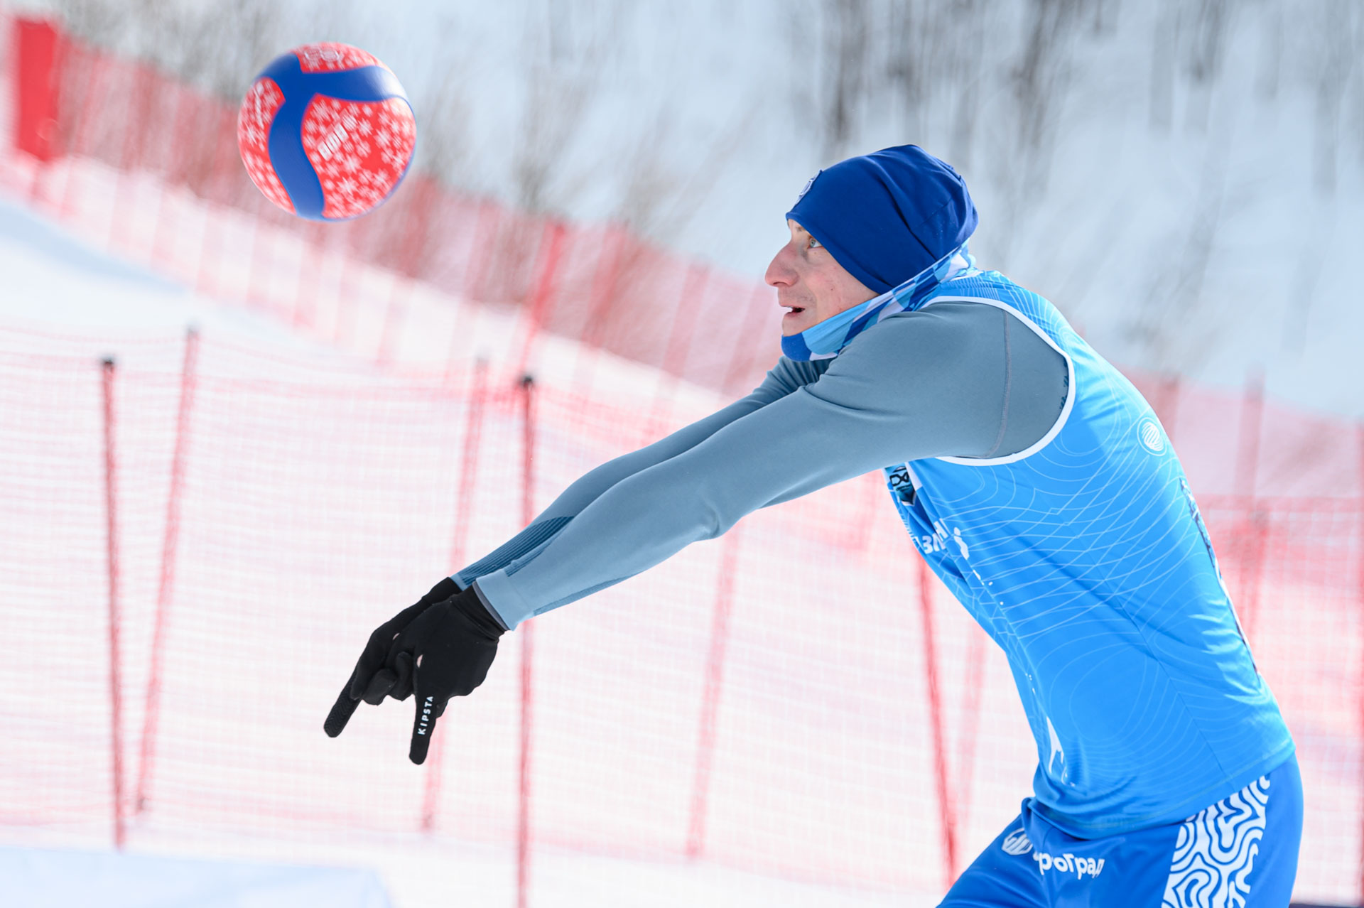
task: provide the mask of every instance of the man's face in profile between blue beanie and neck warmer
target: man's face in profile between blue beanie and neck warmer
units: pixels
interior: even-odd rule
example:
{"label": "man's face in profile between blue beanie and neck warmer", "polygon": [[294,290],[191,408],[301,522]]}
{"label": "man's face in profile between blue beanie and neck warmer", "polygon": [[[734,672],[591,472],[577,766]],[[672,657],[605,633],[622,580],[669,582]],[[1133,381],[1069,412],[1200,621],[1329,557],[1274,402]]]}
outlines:
{"label": "man's face in profile between blue beanie and neck warmer", "polygon": [[782,316],[782,334],[799,334],[812,324],[866,303],[876,296],[870,288],[843,270],[829,251],[805,228],[787,221],[791,241],[783,245],[762,275],[776,288],[776,301],[790,309]]}

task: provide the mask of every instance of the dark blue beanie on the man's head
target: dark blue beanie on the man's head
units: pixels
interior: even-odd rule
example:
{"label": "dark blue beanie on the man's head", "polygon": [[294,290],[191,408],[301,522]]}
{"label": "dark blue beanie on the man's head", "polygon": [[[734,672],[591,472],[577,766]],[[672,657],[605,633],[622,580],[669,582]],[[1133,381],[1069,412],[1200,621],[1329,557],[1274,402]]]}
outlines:
{"label": "dark blue beanie on the man's head", "polygon": [[877,294],[952,252],[975,230],[966,183],[915,145],[820,170],[786,217]]}

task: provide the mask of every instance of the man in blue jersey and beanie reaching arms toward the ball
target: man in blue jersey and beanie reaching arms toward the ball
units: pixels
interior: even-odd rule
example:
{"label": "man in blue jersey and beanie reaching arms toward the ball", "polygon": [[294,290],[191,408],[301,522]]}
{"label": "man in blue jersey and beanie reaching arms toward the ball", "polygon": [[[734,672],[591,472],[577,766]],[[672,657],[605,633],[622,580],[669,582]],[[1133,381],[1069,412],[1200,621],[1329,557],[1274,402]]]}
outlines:
{"label": "man in blue jersey and beanie reaching arms toward the ball", "polygon": [[1034,795],[943,904],[1286,905],[1293,742],[1178,459],[1050,303],[975,269],[975,224],[915,146],[820,172],[768,266],[788,311],[762,384],[587,473],[379,627],[327,733],[415,691],[421,762],[505,630],[884,469],[919,554],[1007,653],[1038,747]]}

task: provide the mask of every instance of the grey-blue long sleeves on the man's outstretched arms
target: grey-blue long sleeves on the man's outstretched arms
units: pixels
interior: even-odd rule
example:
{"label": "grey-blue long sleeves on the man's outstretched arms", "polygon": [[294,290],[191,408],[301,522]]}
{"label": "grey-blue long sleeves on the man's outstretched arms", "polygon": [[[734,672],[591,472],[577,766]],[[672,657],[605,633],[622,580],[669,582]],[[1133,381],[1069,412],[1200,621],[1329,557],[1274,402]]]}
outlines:
{"label": "grey-blue long sleeves on the man's outstretched arms", "polygon": [[747,397],[584,474],[454,579],[516,627],[760,507],[906,461],[1022,451],[1060,416],[1067,375],[1061,353],[1004,309],[892,315],[833,360],[782,357]]}

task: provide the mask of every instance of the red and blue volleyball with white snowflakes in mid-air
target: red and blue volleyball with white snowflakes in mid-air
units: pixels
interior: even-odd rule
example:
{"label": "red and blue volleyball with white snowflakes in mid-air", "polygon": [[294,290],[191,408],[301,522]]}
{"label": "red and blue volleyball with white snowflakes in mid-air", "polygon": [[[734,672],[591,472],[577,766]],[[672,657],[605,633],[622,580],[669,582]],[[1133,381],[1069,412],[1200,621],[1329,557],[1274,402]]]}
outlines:
{"label": "red and blue volleyball with white snowflakes in mid-air", "polygon": [[261,71],[237,115],[251,181],[285,211],[345,221],[398,188],[416,147],[393,72],[348,44],[306,44]]}

